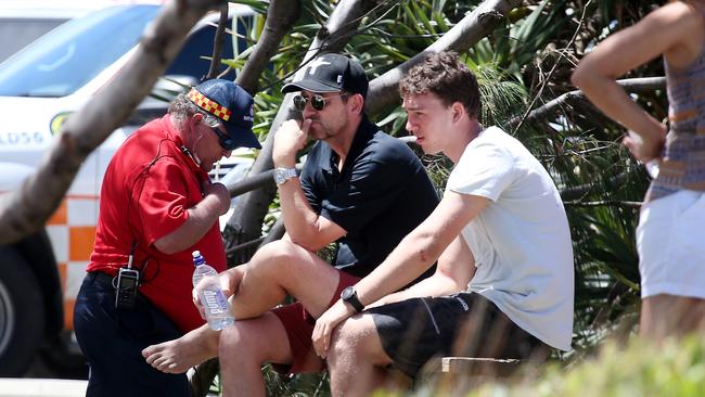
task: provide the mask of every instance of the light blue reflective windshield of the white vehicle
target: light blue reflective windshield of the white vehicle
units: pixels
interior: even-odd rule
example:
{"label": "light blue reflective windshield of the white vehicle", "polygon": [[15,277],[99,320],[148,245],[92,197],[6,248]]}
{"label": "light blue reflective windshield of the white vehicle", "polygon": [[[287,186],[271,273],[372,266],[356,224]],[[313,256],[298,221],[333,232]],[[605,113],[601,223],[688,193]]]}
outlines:
{"label": "light blue reflective windshield of the white vehicle", "polygon": [[121,5],[67,22],[0,64],[0,95],[74,93],[134,47],[157,12]]}

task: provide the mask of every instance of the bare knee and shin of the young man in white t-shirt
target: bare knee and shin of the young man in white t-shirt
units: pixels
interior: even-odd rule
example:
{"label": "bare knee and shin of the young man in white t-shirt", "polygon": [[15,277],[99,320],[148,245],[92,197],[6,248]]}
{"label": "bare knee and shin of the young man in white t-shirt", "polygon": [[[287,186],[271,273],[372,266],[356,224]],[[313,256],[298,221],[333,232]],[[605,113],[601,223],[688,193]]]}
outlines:
{"label": "bare knee and shin of the young man in white t-shirt", "polygon": [[371,316],[355,316],[334,332],[328,354],[333,396],[369,396],[386,380],[384,353]]}

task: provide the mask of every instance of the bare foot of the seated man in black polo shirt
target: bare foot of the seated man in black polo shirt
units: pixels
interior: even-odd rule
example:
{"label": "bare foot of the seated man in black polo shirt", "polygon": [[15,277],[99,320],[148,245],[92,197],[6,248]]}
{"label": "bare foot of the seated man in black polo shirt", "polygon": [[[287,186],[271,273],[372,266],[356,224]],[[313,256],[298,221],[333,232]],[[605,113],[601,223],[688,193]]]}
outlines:
{"label": "bare foot of the seated man in black polo shirt", "polygon": [[206,324],[178,340],[148,346],[142,350],[142,357],[162,372],[183,373],[218,356],[219,337],[220,332],[210,330]]}

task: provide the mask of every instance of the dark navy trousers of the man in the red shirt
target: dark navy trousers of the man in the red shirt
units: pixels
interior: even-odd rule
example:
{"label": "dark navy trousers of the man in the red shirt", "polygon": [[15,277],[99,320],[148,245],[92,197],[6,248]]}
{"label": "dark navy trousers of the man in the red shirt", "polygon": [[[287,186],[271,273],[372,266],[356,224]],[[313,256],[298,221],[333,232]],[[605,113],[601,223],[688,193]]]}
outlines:
{"label": "dark navy trousers of the man in the red shirt", "polygon": [[112,278],[88,273],[74,308],[74,330],[90,367],[87,396],[190,396],[185,374],[163,373],[142,349],[182,333],[139,295],[134,310],[115,309]]}

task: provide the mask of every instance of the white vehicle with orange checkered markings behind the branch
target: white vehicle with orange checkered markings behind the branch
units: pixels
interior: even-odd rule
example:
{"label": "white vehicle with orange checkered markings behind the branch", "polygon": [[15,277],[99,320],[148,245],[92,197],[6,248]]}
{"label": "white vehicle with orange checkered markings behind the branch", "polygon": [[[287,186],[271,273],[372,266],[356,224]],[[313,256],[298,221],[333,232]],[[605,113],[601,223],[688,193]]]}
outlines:
{"label": "white vehicle with orange checkered markings behind the branch", "polygon": [[[0,193],[22,183],[66,117],[119,74],[158,11],[155,4],[101,9],[67,22],[0,64]],[[210,14],[193,28],[165,75],[193,85],[207,74],[209,61],[203,57],[211,55],[218,16]],[[232,5],[230,16],[243,33],[254,12]],[[233,57],[233,47],[244,50],[245,43],[223,46],[223,57]],[[234,73],[225,78],[234,79]],[[166,80],[158,85],[162,95],[174,86]],[[0,376],[21,376],[40,347],[46,357],[60,356],[57,364],[66,366],[63,353],[76,347],[70,344],[73,306],[93,245],[103,174],[125,138],[167,106],[156,99],[140,104],[128,125],[86,159],[46,230],[0,247]],[[242,175],[251,163],[234,162],[233,172]]]}

